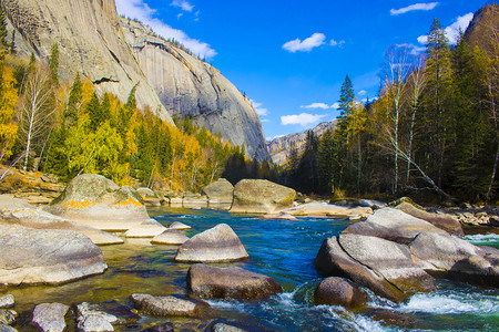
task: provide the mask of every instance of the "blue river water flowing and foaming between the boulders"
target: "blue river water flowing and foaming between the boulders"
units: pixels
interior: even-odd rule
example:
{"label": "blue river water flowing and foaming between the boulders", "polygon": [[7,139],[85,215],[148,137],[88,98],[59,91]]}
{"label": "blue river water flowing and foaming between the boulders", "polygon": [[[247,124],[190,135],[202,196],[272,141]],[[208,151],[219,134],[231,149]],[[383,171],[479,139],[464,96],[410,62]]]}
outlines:
{"label": "blue river water flowing and foaming between the boulders", "polygon": [[[465,283],[438,281],[432,293],[416,294],[396,304],[370,293],[370,309],[349,312],[340,307],[313,305],[313,293],[320,276],[314,258],[324,238],[339,234],[349,221],[304,218],[264,220],[232,216],[225,211],[152,209],[150,215],[165,226],[181,221],[193,227],[187,236],[217,224],[228,224],[241,238],[251,259],[230,263],[273,277],[284,293],[262,302],[210,301],[215,312],[210,319],[169,320],[180,330],[203,330],[216,318],[242,322],[266,331],[499,331],[499,290]],[[499,248],[498,235],[467,236],[478,246]],[[113,302],[133,307],[132,293],[153,295],[185,293],[190,264],[174,262],[175,246],[152,246],[149,240],[126,240],[124,245],[102,247],[109,269],[101,276],[59,287],[10,288],[21,314],[19,330],[35,331],[27,322],[35,304]],[[216,264],[218,267],[227,266]],[[159,322],[142,317],[120,331],[142,331]],[[70,326],[70,331],[74,326]],[[177,331],[177,330],[175,330]]]}

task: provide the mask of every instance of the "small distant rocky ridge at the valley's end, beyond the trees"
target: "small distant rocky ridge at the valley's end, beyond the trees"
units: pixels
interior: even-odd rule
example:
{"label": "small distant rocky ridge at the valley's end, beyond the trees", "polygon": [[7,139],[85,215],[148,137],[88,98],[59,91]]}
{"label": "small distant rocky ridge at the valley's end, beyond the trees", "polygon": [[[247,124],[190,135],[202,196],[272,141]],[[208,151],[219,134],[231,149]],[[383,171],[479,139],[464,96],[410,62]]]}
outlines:
{"label": "small distant rocky ridge at the valley's end, beyond the trees", "polygon": [[[317,137],[322,137],[327,129],[334,131],[336,123],[336,120],[332,122],[324,122],[318,124],[312,131]],[[276,165],[286,164],[287,156],[289,155],[289,151],[292,149],[292,147],[295,147],[299,154],[305,149],[306,141],[307,132],[303,132],[298,134],[277,137],[271,142],[267,142],[267,149],[271,153],[272,162]]]}

